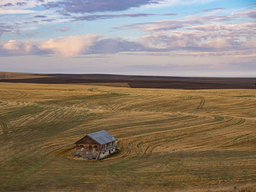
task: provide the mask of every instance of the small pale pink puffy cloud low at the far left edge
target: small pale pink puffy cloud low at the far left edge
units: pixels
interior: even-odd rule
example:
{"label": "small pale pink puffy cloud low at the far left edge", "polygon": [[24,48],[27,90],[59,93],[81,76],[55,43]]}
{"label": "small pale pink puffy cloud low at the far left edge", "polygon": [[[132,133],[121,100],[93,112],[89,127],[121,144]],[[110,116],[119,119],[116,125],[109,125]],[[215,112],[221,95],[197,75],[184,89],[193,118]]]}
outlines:
{"label": "small pale pink puffy cloud low at the far left edge", "polygon": [[32,44],[30,42],[20,42],[20,41],[16,41],[16,40],[2,42],[3,49],[19,52],[21,54],[30,53],[32,51],[33,47],[34,47],[34,44]]}

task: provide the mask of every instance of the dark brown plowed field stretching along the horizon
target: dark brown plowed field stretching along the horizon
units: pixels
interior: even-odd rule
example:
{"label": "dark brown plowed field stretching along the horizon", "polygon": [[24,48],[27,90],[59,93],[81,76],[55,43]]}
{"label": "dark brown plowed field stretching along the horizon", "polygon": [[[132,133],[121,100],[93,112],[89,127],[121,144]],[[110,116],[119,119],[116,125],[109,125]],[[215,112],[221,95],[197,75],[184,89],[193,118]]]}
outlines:
{"label": "dark brown plowed field stretching along the horizon", "polygon": [[[108,74],[31,74],[36,78],[0,79],[5,83],[96,84],[128,83],[131,88],[255,89],[256,78],[166,77]],[[45,77],[41,77],[45,76]]]}

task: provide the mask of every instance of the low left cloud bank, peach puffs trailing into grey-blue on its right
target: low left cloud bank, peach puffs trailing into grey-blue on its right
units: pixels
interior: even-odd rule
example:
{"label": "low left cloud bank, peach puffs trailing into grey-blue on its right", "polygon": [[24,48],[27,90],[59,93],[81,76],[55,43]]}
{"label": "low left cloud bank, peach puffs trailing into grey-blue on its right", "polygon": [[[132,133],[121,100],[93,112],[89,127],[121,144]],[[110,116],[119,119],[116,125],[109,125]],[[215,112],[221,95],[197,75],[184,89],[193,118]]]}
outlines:
{"label": "low left cloud bank, peach puffs trailing into grey-blue on its right", "polygon": [[101,35],[85,34],[83,36],[59,37],[49,41],[20,42],[10,40],[0,45],[0,56],[7,55],[60,55],[72,57],[77,54],[118,53],[122,51],[146,51],[139,43],[122,38],[98,39]]}

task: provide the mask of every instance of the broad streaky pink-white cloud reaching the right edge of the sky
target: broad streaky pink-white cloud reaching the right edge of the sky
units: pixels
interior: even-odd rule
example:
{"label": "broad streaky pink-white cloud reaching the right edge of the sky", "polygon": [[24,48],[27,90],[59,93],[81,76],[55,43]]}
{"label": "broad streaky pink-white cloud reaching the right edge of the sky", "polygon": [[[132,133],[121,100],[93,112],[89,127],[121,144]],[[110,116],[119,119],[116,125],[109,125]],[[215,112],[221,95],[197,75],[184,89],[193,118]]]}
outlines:
{"label": "broad streaky pink-white cloud reaching the right edge of the sky", "polygon": [[[256,37],[256,23],[242,24],[204,24],[183,27],[186,31],[156,32],[139,38],[147,48],[167,50],[188,50],[204,52],[223,52],[246,50],[255,52],[250,42]],[[244,52],[245,53],[245,52]],[[239,53],[240,54],[240,53]]]}

